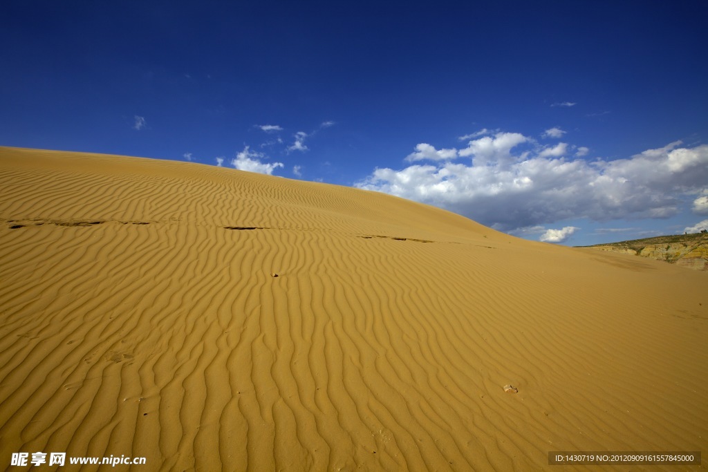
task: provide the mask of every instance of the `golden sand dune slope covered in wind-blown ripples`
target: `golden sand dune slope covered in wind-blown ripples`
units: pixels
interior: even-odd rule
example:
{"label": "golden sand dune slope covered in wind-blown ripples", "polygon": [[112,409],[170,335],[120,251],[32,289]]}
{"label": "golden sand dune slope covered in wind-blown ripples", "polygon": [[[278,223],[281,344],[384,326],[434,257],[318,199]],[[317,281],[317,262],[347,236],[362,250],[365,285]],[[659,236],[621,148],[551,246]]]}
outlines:
{"label": "golden sand dune slope covered in wind-blown ripples", "polygon": [[0,468],[16,451],[139,471],[706,451],[707,288],[374,192],[0,148]]}

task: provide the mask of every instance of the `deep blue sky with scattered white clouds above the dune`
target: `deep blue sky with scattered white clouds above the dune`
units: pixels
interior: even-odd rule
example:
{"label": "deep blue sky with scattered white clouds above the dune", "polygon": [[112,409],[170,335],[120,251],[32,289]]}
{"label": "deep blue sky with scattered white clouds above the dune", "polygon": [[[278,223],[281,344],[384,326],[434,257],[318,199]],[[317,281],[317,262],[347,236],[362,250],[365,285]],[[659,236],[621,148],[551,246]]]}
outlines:
{"label": "deep blue sky with scattered white clouds above the dune", "polygon": [[0,145],[389,192],[571,246],[708,227],[708,3],[0,6]]}

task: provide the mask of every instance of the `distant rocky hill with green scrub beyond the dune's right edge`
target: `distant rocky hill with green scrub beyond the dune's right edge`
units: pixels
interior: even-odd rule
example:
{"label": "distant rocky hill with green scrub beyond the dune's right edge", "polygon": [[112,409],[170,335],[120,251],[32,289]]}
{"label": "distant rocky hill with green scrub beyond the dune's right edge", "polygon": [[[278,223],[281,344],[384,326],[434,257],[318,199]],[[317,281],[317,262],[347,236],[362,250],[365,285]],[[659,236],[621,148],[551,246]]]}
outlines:
{"label": "distant rocky hill with green scrub beyond the dune's right edge", "polygon": [[665,260],[668,263],[694,270],[708,270],[708,233],[656,236],[618,243],[576,246],[641,255],[644,258]]}

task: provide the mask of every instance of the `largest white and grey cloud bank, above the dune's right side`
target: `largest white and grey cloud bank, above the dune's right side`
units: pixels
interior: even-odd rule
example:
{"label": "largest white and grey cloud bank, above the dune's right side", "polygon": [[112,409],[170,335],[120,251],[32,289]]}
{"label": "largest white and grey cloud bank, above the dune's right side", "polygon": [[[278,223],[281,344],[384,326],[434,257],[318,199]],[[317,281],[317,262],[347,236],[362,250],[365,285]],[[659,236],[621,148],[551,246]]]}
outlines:
{"label": "largest white and grey cloud bank, above the dune's right side", "polygon": [[377,168],[355,185],[443,207],[501,231],[569,218],[665,218],[708,182],[708,145],[680,145],[588,162],[566,154],[568,144],[542,147],[523,134],[500,132],[458,151],[471,162],[430,159],[400,170]]}

